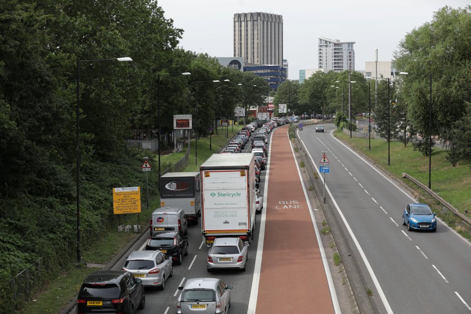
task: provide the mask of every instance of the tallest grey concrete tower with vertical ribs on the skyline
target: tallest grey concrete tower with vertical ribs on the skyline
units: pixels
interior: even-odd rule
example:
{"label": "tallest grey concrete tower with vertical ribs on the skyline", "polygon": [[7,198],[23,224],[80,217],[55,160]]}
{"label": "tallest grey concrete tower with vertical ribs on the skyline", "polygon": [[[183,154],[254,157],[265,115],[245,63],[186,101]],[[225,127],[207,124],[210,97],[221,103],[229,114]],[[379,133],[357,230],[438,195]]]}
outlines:
{"label": "tallest grey concrete tower with vertical ribs on the skyline", "polygon": [[250,64],[283,64],[283,16],[234,14],[234,56]]}

